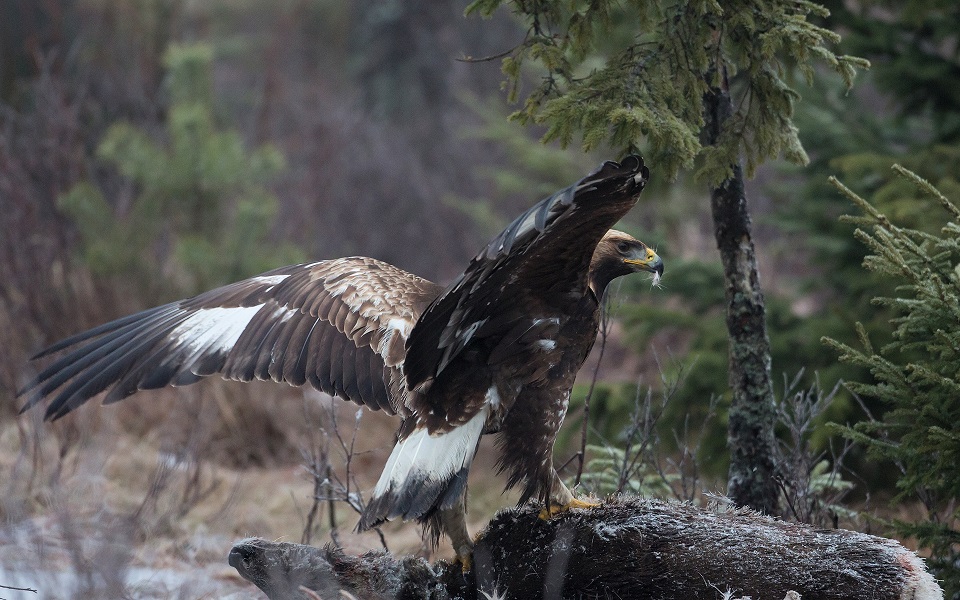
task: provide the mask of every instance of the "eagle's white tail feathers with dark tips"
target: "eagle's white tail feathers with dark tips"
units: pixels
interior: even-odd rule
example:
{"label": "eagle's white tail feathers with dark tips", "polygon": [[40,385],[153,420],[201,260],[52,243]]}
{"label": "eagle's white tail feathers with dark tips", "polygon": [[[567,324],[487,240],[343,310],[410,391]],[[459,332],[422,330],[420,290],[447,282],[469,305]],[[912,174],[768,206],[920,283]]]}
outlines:
{"label": "eagle's white tail feathers with dark tips", "polygon": [[396,517],[426,523],[437,510],[451,508],[467,487],[489,407],[450,431],[431,435],[415,429],[397,442],[360,517],[364,531]]}

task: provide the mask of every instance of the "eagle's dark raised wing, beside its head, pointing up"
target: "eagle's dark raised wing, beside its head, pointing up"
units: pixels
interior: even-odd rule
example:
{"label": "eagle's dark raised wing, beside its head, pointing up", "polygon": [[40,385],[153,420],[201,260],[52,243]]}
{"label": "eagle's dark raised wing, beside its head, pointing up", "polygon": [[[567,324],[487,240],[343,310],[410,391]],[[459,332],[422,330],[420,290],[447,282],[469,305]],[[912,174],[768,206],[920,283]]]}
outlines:
{"label": "eagle's dark raised wing, beside its head, pointing up", "polygon": [[525,334],[511,328],[528,327],[532,308],[582,294],[594,249],[637,203],[649,176],[638,156],[605,162],[508,225],[417,321],[404,365],[410,389],[426,391],[472,340],[510,343]]}

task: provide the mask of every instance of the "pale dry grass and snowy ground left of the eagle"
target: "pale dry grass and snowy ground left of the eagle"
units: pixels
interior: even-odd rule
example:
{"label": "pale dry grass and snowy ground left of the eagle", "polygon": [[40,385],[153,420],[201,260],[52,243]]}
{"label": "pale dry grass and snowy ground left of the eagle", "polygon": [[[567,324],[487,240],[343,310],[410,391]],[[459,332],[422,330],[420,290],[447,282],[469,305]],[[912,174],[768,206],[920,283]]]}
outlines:
{"label": "pale dry grass and snowy ground left of the eagle", "polygon": [[[226,556],[242,537],[299,540],[313,492],[301,450],[319,435],[325,404],[346,428],[357,410],[322,398],[217,381],[116,406],[91,402],[53,424],[41,422],[40,411],[5,420],[0,584],[45,598],[259,597]],[[375,484],[395,427],[393,418],[364,411],[352,459],[361,492]],[[515,502],[493,480],[492,444],[484,441],[471,476],[474,531]],[[334,468],[343,468],[341,459],[333,457]],[[357,515],[345,504],[335,505],[335,521],[348,552],[380,546],[375,533],[353,532]],[[330,539],[326,509],[319,525],[314,544]],[[391,523],[384,534],[391,551],[430,553],[415,524]],[[12,594],[3,597],[19,597]]]}

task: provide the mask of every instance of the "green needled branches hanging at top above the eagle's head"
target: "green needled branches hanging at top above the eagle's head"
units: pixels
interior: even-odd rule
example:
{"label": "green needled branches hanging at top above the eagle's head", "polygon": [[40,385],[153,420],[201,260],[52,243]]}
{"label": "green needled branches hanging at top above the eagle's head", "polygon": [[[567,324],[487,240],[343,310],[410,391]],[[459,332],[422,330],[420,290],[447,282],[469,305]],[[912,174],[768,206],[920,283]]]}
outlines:
{"label": "green needled branches hanging at top above the eagle's head", "polygon": [[[568,145],[579,135],[584,150],[632,152],[645,141],[658,173],[672,178],[698,164],[711,186],[740,156],[748,174],[779,155],[807,162],[793,125],[794,67],[809,82],[815,64],[825,64],[849,87],[856,68],[869,66],[828,48],[839,36],[808,20],[827,12],[813,2],[476,0],[467,13],[488,16],[501,4],[528,27],[503,60],[510,99],[519,96],[525,64],[542,69],[514,119],[545,126],[545,141]],[[720,142],[704,147],[703,97],[721,85],[721,73],[732,78],[735,113]]]}

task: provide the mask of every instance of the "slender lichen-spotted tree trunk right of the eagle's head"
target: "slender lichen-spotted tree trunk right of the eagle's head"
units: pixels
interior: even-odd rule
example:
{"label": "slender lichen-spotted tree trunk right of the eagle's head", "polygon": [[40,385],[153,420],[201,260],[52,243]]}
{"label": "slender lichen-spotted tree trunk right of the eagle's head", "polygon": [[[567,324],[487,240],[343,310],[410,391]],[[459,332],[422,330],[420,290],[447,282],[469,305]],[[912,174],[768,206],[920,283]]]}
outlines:
{"label": "slender lichen-spotted tree trunk right of the eagle's head", "polygon": [[[705,142],[719,141],[723,123],[733,113],[726,72],[721,88],[704,98]],[[727,330],[730,334],[730,472],[727,494],[739,506],[777,514],[779,488],[775,461],[776,406],[770,378],[763,293],[750,234],[750,213],[739,161],[733,176],[710,190],[714,234],[726,282]]]}

